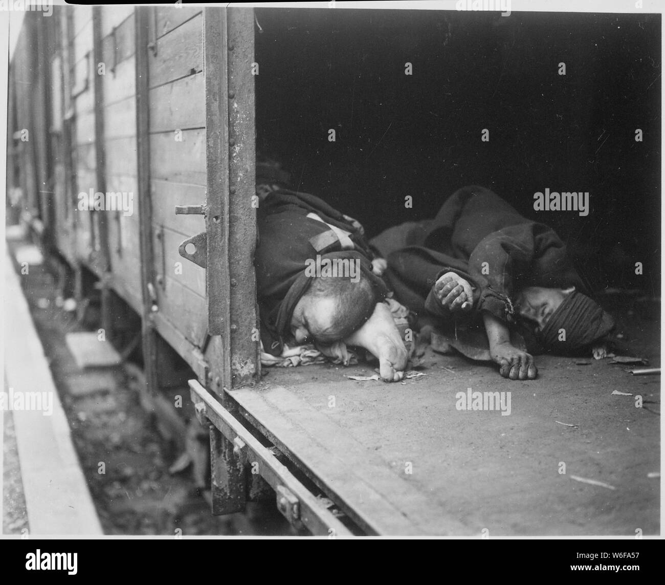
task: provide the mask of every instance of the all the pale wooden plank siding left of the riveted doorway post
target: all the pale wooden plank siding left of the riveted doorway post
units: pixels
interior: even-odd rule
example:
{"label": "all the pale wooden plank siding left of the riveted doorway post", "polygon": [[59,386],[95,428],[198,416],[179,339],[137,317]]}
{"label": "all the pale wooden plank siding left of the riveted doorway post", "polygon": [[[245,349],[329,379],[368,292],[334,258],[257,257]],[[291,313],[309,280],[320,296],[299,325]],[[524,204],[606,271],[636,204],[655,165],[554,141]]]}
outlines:
{"label": "all the pale wooden plank siding left of the riveted doorway post", "polygon": [[[160,333],[196,365],[202,356],[187,354],[194,347],[203,348],[207,340],[205,270],[184,260],[178,247],[203,232],[205,221],[203,216],[176,216],[174,208],[206,201],[203,14],[199,8],[170,6],[154,7],[150,14],[150,236],[159,307],[155,316]],[[49,71],[47,101],[37,107],[48,106],[51,118],[47,130],[51,131],[55,243],[74,268],[82,264],[99,278],[106,276],[106,267],[98,260],[108,246],[110,286],[142,313],[134,7],[101,7],[98,21],[93,19],[91,7],[61,7],[54,21],[53,32],[47,34],[53,43],[45,63]],[[31,129],[35,104],[19,83],[30,87],[33,77],[29,33],[29,29],[21,33],[13,75],[19,92],[17,126]],[[95,39],[99,39],[105,67],[97,84]],[[97,110],[96,104],[101,106]],[[27,207],[39,213],[38,153],[32,144],[21,148]],[[98,184],[100,180],[106,185]],[[80,192],[97,192],[102,187],[107,192],[134,194],[132,215],[103,212],[108,234],[103,241],[98,223],[102,214],[78,210]]]}

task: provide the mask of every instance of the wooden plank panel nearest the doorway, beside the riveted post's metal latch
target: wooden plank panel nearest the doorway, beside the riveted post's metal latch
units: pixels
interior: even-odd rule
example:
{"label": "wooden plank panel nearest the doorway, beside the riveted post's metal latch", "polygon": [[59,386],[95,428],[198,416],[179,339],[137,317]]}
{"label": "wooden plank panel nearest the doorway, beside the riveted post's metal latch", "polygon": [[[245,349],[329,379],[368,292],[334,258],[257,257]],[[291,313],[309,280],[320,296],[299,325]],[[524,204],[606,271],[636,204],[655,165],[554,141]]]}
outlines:
{"label": "wooden plank panel nearest the doorway, beside the riveted post's metal latch", "polygon": [[178,254],[205,230],[203,216],[176,205],[205,203],[205,91],[201,9],[155,7],[148,51],[150,189],[160,314],[201,347],[207,331],[205,270]]}

